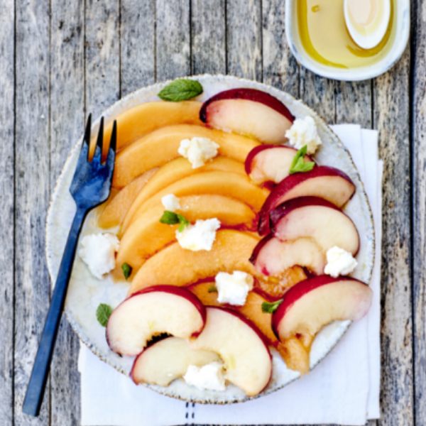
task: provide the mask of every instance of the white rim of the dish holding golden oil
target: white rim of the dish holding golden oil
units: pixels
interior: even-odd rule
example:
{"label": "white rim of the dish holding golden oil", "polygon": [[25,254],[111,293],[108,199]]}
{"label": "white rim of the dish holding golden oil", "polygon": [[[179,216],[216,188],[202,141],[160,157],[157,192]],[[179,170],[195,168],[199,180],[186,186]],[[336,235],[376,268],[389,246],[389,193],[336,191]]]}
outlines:
{"label": "white rim of the dish holding golden oil", "polygon": [[297,24],[296,5],[297,0],[287,0],[285,2],[285,35],[287,36],[288,45],[300,65],[322,77],[349,82],[377,77],[390,70],[398,62],[408,43],[410,35],[410,1],[393,0],[396,34],[391,50],[382,60],[374,65],[368,65],[368,67],[351,68],[349,70],[323,65],[308,55],[305,48],[303,48]]}

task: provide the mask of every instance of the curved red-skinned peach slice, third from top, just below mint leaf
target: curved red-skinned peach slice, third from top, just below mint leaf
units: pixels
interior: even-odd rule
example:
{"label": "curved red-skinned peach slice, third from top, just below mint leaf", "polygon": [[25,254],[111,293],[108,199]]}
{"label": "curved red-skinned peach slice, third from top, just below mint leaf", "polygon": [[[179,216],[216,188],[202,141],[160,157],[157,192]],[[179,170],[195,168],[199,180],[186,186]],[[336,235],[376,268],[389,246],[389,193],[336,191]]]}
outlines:
{"label": "curved red-skinned peach slice, third from top, just below mint leaf", "polygon": [[355,185],[341,170],[325,165],[309,172],[295,173],[282,180],[271,192],[259,213],[258,231],[270,232],[269,214],[285,201],[299,197],[320,197],[341,208],[355,193]]}

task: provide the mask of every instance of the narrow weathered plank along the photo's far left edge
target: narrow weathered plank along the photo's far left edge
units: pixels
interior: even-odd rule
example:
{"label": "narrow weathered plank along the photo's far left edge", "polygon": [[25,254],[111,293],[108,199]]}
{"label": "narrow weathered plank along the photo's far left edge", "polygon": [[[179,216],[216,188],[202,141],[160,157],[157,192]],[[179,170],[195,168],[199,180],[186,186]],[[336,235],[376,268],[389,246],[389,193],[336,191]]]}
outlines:
{"label": "narrow weathered plank along the photo's far left edge", "polygon": [[13,0],[0,9],[0,419],[13,424],[13,204],[14,204],[14,35]]}

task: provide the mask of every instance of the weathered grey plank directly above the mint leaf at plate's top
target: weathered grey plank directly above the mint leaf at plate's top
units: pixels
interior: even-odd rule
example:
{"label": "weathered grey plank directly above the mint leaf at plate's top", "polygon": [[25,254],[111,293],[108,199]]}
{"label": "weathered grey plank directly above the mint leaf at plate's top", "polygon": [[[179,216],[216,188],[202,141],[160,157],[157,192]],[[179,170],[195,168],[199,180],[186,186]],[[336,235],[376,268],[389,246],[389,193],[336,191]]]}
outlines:
{"label": "weathered grey plank directly above the mint leaf at plate's top", "polygon": [[158,82],[190,75],[190,0],[156,0]]}

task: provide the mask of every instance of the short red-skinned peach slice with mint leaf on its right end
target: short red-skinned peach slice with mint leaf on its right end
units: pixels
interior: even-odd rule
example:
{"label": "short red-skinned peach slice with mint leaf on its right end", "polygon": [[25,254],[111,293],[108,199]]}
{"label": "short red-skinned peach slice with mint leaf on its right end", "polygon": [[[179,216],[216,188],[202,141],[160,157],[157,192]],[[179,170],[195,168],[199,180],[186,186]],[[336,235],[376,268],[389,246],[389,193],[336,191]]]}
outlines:
{"label": "short red-skinned peach slice with mint leaf on its right end", "polygon": [[[290,146],[261,145],[253,148],[246,158],[246,173],[256,185],[266,182],[279,183],[287,178],[297,150]],[[312,162],[309,155],[303,159]]]}

